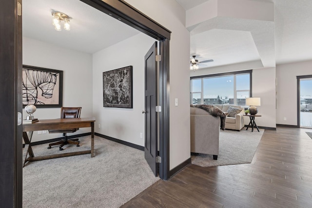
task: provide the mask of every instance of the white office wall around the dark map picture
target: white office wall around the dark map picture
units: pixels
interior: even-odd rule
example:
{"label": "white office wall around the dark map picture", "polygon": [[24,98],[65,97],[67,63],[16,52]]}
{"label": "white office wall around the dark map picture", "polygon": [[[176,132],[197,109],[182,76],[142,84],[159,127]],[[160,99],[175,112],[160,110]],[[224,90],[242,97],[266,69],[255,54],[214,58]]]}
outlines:
{"label": "white office wall around the dark map picture", "polygon": [[[95,132],[144,147],[144,56],[155,41],[141,33],[93,54]],[[133,66],[133,108],[104,108],[102,73],[125,66]]]}

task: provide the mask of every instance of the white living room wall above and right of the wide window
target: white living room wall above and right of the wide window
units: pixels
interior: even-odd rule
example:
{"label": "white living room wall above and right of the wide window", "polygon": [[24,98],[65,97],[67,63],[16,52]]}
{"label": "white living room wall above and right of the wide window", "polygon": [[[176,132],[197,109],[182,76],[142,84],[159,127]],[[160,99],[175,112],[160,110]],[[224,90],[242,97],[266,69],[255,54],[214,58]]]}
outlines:
{"label": "white living room wall above and right of the wide window", "polygon": [[[233,64],[220,67],[191,71],[190,76],[201,76],[219,74],[225,72],[235,72],[250,70],[249,63]],[[256,124],[261,127],[276,127],[275,121],[275,67],[253,69],[253,97],[261,98],[261,106],[257,107],[261,117],[256,118]],[[245,124],[248,125],[249,118],[244,117]]]}

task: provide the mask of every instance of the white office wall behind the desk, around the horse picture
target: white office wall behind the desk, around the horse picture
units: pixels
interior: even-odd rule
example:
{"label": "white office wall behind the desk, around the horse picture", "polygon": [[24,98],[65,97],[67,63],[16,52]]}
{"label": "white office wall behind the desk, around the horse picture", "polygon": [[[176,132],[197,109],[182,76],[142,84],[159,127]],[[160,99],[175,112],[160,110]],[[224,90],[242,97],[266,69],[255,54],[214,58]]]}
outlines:
{"label": "white office wall behind the desk, around the horse picture", "polygon": [[[63,106],[82,107],[81,117],[92,117],[92,55],[58,47],[39,40],[23,37],[23,64],[63,72]],[[23,118],[27,113],[23,110]],[[40,119],[59,118],[60,108],[38,108],[34,117]],[[80,128],[74,135],[90,132]],[[38,134],[34,132],[32,142],[61,137],[62,134]]]}

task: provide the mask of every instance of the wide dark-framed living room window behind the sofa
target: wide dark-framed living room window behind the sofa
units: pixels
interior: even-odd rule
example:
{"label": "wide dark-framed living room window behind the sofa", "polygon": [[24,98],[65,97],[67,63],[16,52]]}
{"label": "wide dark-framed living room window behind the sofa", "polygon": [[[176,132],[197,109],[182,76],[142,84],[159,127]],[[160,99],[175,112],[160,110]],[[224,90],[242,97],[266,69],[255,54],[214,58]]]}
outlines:
{"label": "wide dark-framed living room window behind the sofa", "polygon": [[246,106],[251,80],[252,70],[191,77],[191,104]]}

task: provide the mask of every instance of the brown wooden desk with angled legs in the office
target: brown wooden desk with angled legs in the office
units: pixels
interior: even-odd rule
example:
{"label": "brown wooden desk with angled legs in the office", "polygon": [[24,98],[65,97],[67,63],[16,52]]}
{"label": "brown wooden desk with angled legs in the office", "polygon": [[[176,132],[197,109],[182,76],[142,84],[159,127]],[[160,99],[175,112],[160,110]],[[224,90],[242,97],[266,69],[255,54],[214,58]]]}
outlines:
{"label": "brown wooden desk with angled legs in the office", "polygon": [[[23,124],[23,139],[25,144],[29,144],[27,153],[29,157],[25,157],[24,165],[27,161],[37,161],[37,160],[46,160],[58,157],[67,157],[79,154],[89,154],[91,157],[94,157],[94,122],[95,118],[58,118],[58,119],[40,119],[37,123],[32,124]],[[65,129],[75,129],[75,128],[84,128],[91,127],[91,150],[87,151],[75,151],[62,154],[53,154],[46,156],[35,157],[33,149],[31,148],[31,138],[34,131],[42,130],[65,130]],[[29,132],[29,137],[27,132]]]}

